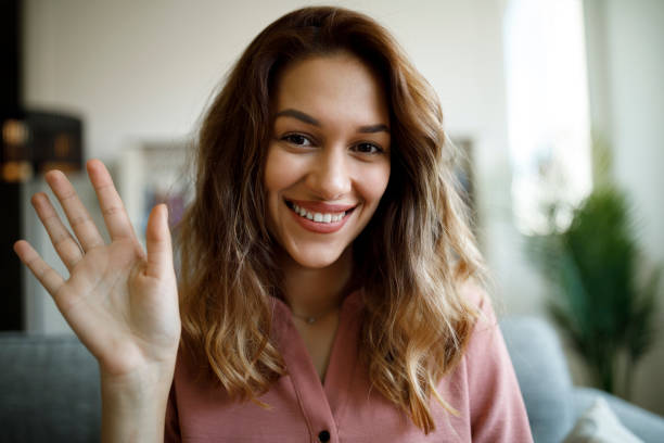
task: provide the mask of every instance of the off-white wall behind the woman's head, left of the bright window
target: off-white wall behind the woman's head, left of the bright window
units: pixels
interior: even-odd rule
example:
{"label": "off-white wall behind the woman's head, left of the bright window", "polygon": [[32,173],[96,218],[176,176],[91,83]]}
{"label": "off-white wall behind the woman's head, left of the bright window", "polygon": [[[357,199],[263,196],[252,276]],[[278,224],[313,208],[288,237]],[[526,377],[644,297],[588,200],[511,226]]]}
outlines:
{"label": "off-white wall behind the woman's head, left of the bright window", "polygon": [[[90,156],[113,157],[128,137],[181,136],[251,39],[302,3],[28,0],[27,104],[82,113]],[[501,100],[484,100],[501,97],[498,1],[336,3],[395,31],[450,109],[450,125],[474,131],[485,119],[477,112],[502,113]]]}

